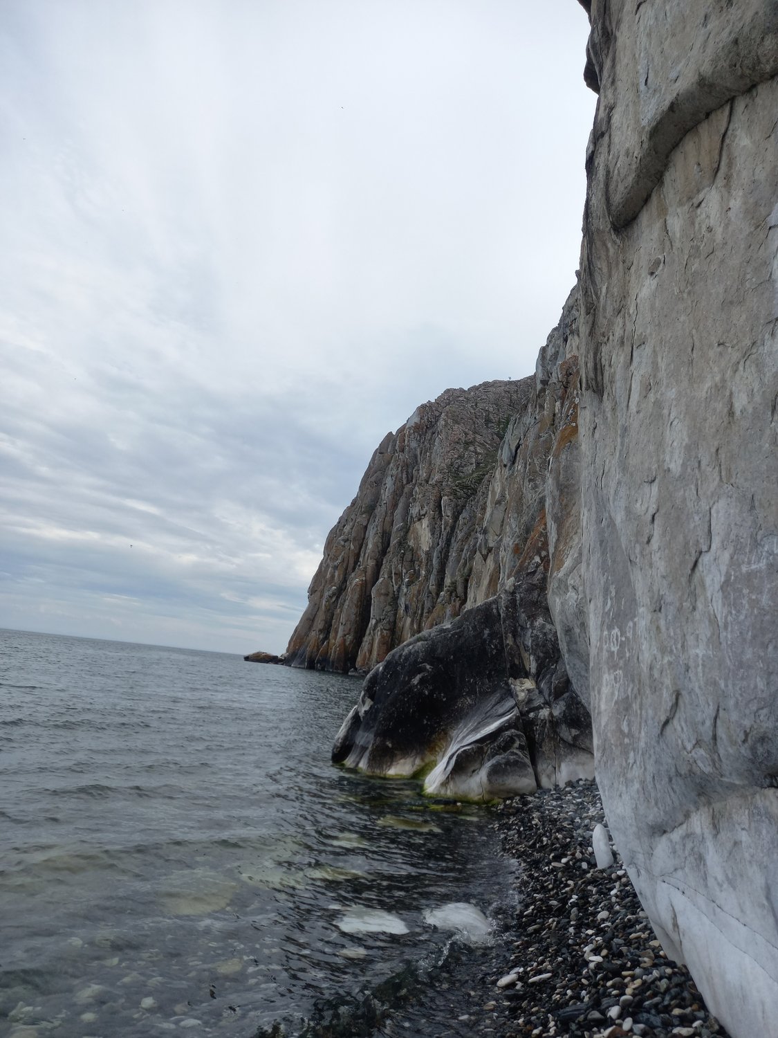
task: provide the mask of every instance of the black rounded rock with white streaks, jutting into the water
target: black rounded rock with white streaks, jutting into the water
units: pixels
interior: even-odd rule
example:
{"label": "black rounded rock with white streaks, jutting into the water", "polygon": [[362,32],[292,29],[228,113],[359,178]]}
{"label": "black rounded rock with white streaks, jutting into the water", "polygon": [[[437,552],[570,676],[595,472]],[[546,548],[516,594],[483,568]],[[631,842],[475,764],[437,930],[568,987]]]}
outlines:
{"label": "black rounded rock with white streaks, jutting into the water", "polygon": [[560,657],[545,579],[512,582],[389,653],[332,758],[368,774],[424,775],[425,792],[473,800],[591,777],[591,721]]}

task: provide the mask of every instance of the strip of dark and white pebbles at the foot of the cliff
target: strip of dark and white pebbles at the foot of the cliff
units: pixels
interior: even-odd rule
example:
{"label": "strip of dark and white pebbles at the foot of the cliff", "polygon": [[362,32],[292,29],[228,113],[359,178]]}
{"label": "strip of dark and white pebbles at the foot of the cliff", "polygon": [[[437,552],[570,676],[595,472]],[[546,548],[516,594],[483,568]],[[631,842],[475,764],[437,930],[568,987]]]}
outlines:
{"label": "strip of dark and white pebbles at the foot of the cliff", "polygon": [[503,852],[519,863],[519,907],[504,961],[482,978],[473,1030],[727,1038],[688,969],[662,951],[617,850],[611,867],[596,868],[591,835],[606,820],[595,785],[516,797],[495,814]]}

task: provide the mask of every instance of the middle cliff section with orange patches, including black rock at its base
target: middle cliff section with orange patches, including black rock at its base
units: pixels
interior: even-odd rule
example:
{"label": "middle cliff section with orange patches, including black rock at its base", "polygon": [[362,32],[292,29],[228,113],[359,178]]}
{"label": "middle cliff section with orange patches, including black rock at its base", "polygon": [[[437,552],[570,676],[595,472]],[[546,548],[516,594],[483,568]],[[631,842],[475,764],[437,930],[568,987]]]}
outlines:
{"label": "middle cliff section with orange patches, including black rock at its base", "polygon": [[520,383],[521,410],[468,515],[456,556],[469,575],[456,603],[462,616],[433,609],[427,626],[440,622],[371,671],[335,761],[372,774],[424,775],[429,793],[476,799],[593,774],[586,675],[577,679],[579,693],[557,633],[578,649],[583,637],[585,651],[577,349],[574,291],[534,377]]}

